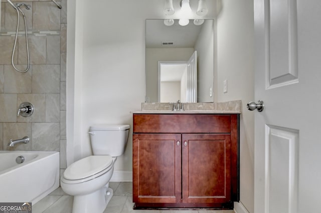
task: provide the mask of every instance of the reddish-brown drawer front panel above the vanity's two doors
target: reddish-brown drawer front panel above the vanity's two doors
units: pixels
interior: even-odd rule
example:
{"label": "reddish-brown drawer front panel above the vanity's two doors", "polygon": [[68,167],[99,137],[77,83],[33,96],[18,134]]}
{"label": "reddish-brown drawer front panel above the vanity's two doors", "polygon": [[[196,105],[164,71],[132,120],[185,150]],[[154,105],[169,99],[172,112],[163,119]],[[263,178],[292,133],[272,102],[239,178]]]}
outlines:
{"label": "reddish-brown drawer front panel above the vanity's two doors", "polygon": [[231,114],[134,114],[133,132],[229,133]]}

